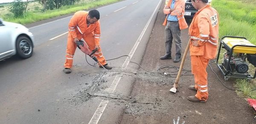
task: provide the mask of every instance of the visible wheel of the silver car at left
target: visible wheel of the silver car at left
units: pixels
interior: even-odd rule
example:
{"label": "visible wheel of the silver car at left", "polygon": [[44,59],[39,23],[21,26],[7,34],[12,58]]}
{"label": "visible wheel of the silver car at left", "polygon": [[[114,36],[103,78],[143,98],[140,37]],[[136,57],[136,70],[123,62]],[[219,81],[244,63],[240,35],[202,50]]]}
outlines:
{"label": "visible wheel of the silver car at left", "polygon": [[32,56],[33,47],[32,41],[28,37],[18,37],[16,41],[16,51],[20,58],[29,58]]}

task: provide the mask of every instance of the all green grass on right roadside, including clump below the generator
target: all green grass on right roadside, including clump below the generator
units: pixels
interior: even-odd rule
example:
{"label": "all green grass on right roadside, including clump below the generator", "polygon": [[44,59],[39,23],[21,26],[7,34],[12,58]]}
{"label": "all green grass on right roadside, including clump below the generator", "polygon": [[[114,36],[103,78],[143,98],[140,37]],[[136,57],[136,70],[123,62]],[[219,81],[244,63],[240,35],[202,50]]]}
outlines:
{"label": "all green grass on right roadside, including clump below the generator", "polygon": [[[223,36],[246,37],[256,45],[256,0],[213,0],[212,7],[220,16],[219,38]],[[223,53],[220,58],[223,58]],[[221,59],[220,59],[221,60]],[[254,75],[255,67],[249,70]],[[244,98],[256,98],[256,80],[236,80],[236,92]]]}

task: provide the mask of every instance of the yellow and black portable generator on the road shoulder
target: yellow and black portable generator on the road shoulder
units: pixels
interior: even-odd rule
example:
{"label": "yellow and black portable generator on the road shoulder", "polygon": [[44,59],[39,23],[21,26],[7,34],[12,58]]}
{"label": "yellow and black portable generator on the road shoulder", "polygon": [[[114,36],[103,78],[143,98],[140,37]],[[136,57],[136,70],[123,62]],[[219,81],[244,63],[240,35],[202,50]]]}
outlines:
{"label": "yellow and black portable generator on the road shoulder", "polygon": [[[221,64],[218,63],[221,49],[225,50]],[[224,75],[225,81],[230,77],[254,79],[256,77],[256,70],[254,76],[250,75],[249,64],[256,67],[256,46],[250,43],[245,37],[224,36],[218,49],[217,66]]]}

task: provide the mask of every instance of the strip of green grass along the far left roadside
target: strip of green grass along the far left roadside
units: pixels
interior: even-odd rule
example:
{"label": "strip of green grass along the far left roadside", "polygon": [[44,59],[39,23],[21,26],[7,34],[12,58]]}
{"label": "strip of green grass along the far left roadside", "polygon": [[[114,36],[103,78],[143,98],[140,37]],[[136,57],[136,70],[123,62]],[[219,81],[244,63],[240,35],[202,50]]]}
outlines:
{"label": "strip of green grass along the far left roadside", "polygon": [[41,11],[36,12],[36,9],[34,9],[34,11],[32,12],[29,11],[28,13],[26,13],[26,17],[15,18],[12,16],[6,16],[8,15],[8,13],[3,16],[0,15],[0,17],[2,17],[3,20],[14,22],[14,23],[28,24],[28,23],[33,23],[40,20],[46,20],[52,17],[58,17],[64,14],[74,13],[79,10],[86,10],[86,9],[94,8],[97,6],[114,3],[117,1],[119,0],[97,0],[92,2],[79,3],[72,6],[62,6],[60,9],[47,10],[45,12],[41,12]]}

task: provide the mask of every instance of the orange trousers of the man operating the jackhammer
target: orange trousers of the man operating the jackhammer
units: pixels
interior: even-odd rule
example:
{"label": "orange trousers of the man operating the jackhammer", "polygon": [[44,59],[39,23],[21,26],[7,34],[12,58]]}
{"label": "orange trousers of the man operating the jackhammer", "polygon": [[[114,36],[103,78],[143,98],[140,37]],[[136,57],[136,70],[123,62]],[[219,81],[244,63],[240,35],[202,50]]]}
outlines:
{"label": "orange trousers of the man operating the jackhammer", "polygon": [[[89,49],[93,50],[95,48],[95,43],[94,43],[94,36],[93,34],[89,35],[78,35],[78,39],[83,38],[85,42],[87,43]],[[73,58],[69,59],[67,55],[74,55],[76,51],[76,43],[74,42],[74,38],[70,33],[68,33],[68,38],[67,38],[67,50],[66,50],[66,62],[64,64],[65,68],[72,68],[73,66]],[[102,65],[105,65],[107,62],[105,60],[105,57],[102,55],[101,48],[99,47],[99,50],[96,52],[95,57],[98,59],[99,63]],[[100,65],[100,64],[99,64]]]}

